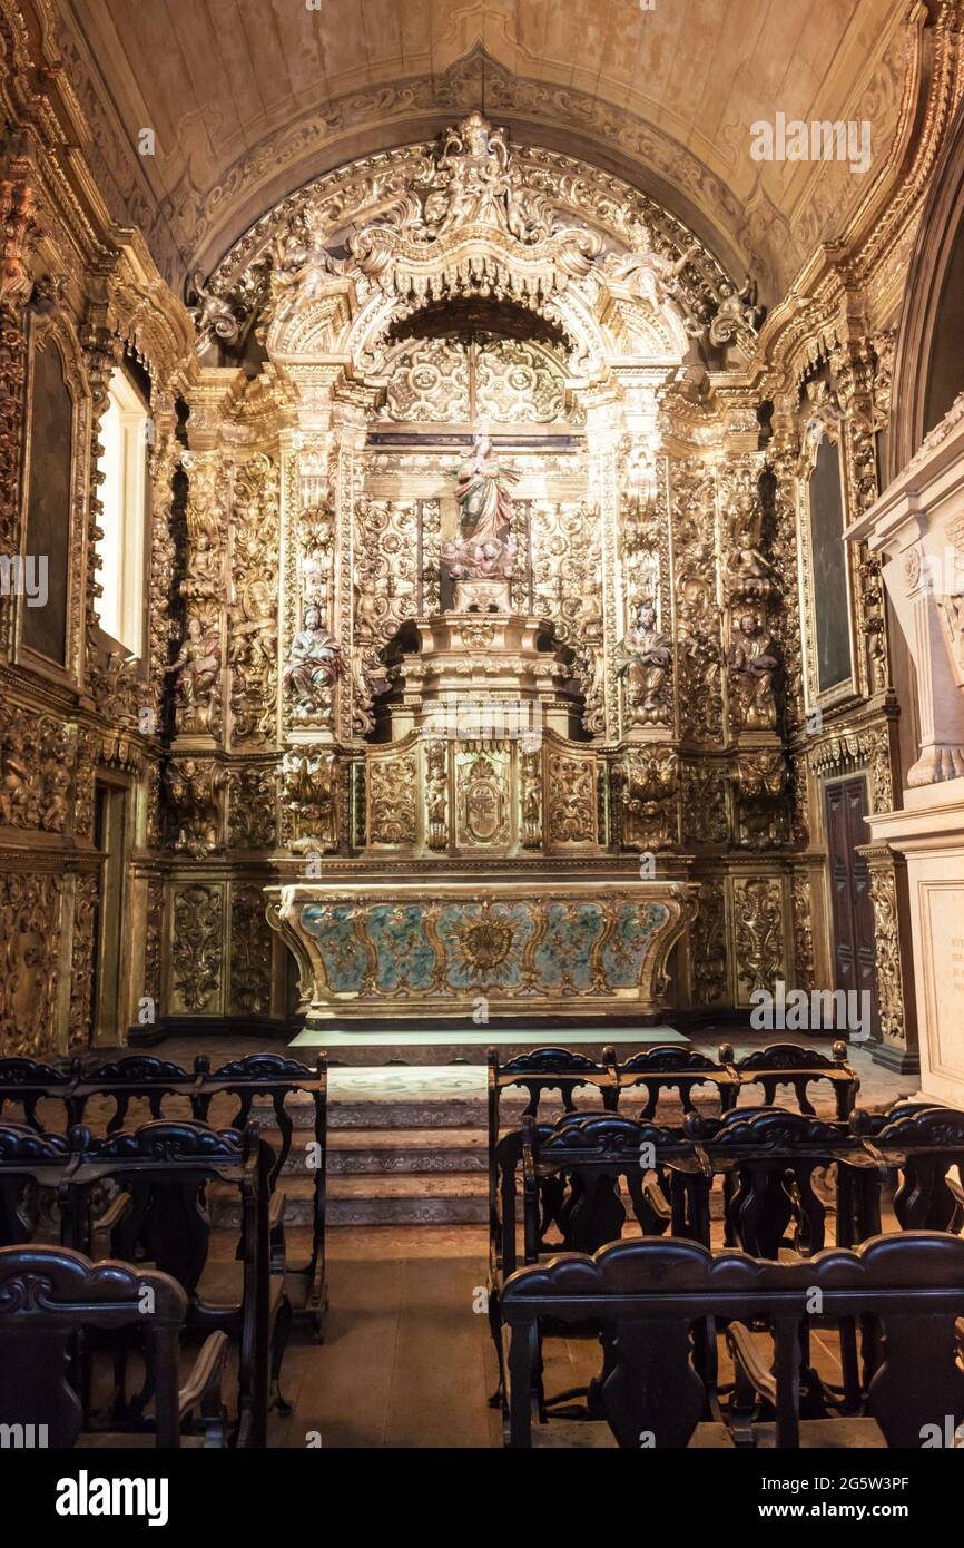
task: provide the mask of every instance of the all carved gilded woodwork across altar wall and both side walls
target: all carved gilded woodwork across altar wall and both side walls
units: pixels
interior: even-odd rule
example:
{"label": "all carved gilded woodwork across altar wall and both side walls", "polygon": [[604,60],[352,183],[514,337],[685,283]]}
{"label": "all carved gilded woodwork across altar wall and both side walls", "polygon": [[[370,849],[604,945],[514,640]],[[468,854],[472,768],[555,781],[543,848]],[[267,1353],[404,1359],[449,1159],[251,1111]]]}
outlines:
{"label": "all carved gilded woodwork across altar wall and both side walls", "polygon": [[[22,551],[51,341],[71,585],[56,669],[0,604],[5,1053],[90,1042],[97,785],[128,794],[121,1029],[282,1022],[292,955],[320,1015],[712,1011],[832,981],[822,786],[863,771],[885,810],[897,734],[860,545],[851,676],[815,680],[808,491],[826,435],[848,517],[876,494],[959,98],[938,31],[933,68],[924,40],[907,62],[916,150],[894,142],[848,251],[815,249],[766,319],[648,197],[478,116],[289,195],[186,311],[60,155],[84,115],[43,76],[57,113],[3,147],[0,528]],[[31,46],[11,28],[19,68]],[[23,90],[5,76],[9,122]],[[139,663],[104,649],[93,553],[125,353],[152,384]],[[870,865],[896,1048],[899,875]]]}

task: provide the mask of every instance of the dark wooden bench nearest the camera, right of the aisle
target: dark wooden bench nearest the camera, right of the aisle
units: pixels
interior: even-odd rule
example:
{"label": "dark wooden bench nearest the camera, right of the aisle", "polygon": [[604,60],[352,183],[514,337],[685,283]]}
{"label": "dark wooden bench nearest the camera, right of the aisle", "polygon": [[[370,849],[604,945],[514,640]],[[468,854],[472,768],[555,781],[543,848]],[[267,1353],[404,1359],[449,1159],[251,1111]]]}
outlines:
{"label": "dark wooden bench nearest the camera, right of the aisle", "polygon": [[[800,1367],[819,1291],[822,1320],[870,1320],[874,1342],[862,1413],[806,1420]],[[774,1263],[743,1252],[710,1252],[673,1237],[617,1241],[593,1257],[563,1254],[518,1269],[504,1285],[509,1330],[506,1444],[613,1444],[628,1450],[733,1446],[732,1424],[707,1420],[712,1393],[693,1359],[707,1319],[772,1331],[767,1410],[747,1415],[757,1375],[741,1365],[735,1409],[741,1443],[758,1447],[919,1447],[928,1427],[964,1420],[964,1370],[955,1322],[964,1313],[964,1241],[939,1232],[873,1237],[856,1251],[831,1248],[809,1260]],[[596,1401],[603,1424],[543,1421],[542,1339],[546,1320],[599,1322],[603,1364]],[[733,1404],[732,1404],[733,1406]]]}

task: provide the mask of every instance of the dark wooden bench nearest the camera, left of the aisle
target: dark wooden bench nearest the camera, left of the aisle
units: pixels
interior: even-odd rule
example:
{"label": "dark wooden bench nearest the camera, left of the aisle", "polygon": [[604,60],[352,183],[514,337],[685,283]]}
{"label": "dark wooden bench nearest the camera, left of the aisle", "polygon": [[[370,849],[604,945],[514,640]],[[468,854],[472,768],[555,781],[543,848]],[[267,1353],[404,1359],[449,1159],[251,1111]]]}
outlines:
{"label": "dark wooden bench nearest the camera, left of the aisle", "polygon": [[[144,1314],[144,1307],[150,1314]],[[178,1384],[187,1297],[167,1274],[90,1259],[70,1248],[0,1248],[0,1413],[25,1443],[50,1447],[224,1444],[221,1376],[227,1336],[212,1333]],[[122,1432],[85,1429],[94,1339],[136,1341],[153,1413]],[[42,1426],[42,1440],[37,1427]],[[9,1433],[9,1430],[8,1430]]]}

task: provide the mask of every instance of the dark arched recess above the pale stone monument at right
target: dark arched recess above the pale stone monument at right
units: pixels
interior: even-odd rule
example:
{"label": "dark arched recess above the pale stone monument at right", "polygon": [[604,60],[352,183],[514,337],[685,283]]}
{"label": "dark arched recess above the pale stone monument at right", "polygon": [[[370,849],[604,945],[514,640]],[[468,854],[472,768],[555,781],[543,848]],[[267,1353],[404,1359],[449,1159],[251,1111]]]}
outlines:
{"label": "dark arched recess above the pale stone monument at right", "polygon": [[885,483],[897,477],[964,392],[962,331],[964,104],[944,147],[910,262],[894,353]]}

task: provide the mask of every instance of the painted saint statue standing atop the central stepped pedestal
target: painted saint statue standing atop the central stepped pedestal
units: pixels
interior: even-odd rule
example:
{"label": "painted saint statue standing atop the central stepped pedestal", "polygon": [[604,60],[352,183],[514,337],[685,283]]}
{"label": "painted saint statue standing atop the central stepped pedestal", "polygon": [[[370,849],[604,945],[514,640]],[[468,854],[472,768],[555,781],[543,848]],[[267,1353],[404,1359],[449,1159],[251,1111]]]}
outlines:
{"label": "painted saint statue standing atop the central stepped pedestal", "polygon": [[509,611],[509,580],[518,568],[512,537],[509,486],[518,471],[503,467],[487,435],[477,435],[456,474],[460,539],[443,546],[443,565],[455,582],[455,607]]}

